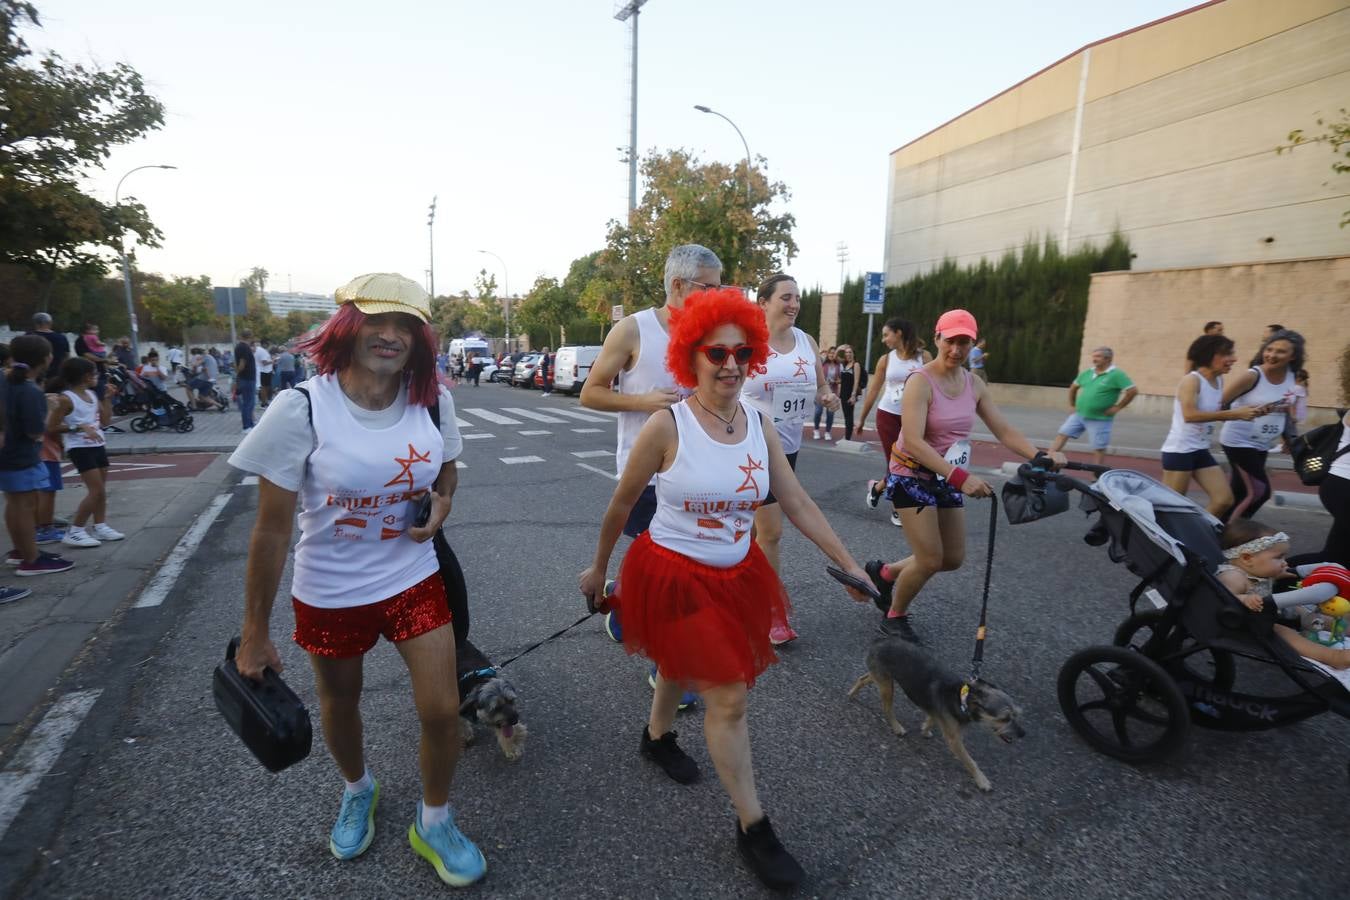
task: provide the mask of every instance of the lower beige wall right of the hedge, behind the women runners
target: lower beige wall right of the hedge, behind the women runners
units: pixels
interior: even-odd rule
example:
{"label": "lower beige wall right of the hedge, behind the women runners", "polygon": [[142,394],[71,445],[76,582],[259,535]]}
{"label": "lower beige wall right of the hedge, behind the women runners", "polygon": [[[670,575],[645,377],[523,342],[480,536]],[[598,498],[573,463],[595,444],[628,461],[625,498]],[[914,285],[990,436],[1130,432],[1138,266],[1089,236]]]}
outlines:
{"label": "lower beige wall right of the hedge, behind the women runners", "polygon": [[1172,397],[1185,371],[1187,347],[1208,320],[1223,322],[1243,367],[1265,325],[1301,332],[1310,405],[1341,403],[1339,360],[1350,347],[1350,256],[1092,275],[1079,367],[1091,364],[1094,348],[1111,347],[1142,394]]}

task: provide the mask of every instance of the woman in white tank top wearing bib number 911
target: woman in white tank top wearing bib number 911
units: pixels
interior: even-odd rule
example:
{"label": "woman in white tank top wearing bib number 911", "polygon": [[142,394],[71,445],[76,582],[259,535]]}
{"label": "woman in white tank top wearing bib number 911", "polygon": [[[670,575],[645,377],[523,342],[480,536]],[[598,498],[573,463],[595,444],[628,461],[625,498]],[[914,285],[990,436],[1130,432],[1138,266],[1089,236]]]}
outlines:
{"label": "woman in white tank top wearing bib number 911", "polygon": [[[840,398],[825,382],[821,352],[810,335],[796,328],[796,314],[802,310],[802,293],[787,275],[774,275],[756,293],[756,302],[764,310],[768,325],[770,355],[763,366],[747,372],[741,397],[763,410],[774,422],[788,466],[796,470],[796,453],[802,447],[806,417],[819,403],[836,410]],[[778,498],[770,494],[755,513],[755,541],[764,551],[775,572],[782,572],[779,545],[783,541],[783,510]],[[775,622],[770,638],[786,644],[796,631],[786,621]]]}

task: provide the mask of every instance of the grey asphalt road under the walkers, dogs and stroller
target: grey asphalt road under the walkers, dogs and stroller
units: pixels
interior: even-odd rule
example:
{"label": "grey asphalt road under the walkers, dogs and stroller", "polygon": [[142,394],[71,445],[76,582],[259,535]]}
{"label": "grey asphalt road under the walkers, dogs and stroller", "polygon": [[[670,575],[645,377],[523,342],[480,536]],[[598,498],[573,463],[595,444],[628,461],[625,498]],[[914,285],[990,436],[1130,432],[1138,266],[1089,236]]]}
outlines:
{"label": "grey asphalt road under the walkers, dogs and stroller", "polygon": [[[497,658],[585,610],[589,561],[613,480],[612,418],[576,401],[483,385],[456,390],[464,429],[447,529],[467,573],[475,642]],[[510,407],[510,409],[505,409]],[[491,424],[483,409],[518,424]],[[558,422],[541,422],[524,409]],[[595,430],[591,430],[595,429]],[[521,432],[536,432],[522,434]],[[505,463],[504,457],[541,461]],[[601,470],[601,471],[594,471]],[[798,474],[859,560],[903,553],[863,483],[878,455],[807,441]],[[19,897],[432,896],[443,885],[408,847],[418,796],[417,725],[397,653],[369,657],[363,715],[383,789],[378,834],[352,862],[327,847],[340,779],[317,734],[313,754],[266,773],[224,727],[211,669],[239,627],[255,490],[236,486],[178,587],[157,609],[127,610],[59,685],[101,691],[88,718],[0,842],[0,893]],[[964,671],[979,613],[987,506],[969,517],[969,560],[921,598],[917,626]],[[1264,519],[1320,545],[1330,519],[1272,509]],[[806,896],[1334,897],[1345,896],[1347,726],[1320,716],[1280,731],[1195,730],[1173,762],[1131,768],[1088,749],[1054,699],[1060,664],[1107,644],[1126,615],[1130,575],[1084,545],[1076,511],[1000,526],[986,676],[1022,704],[1027,737],[968,735],[994,783],[979,793],[938,739],[895,738],[863,672],[878,613],[825,575],[794,530],[784,582],[801,640],[751,696],[756,777],[786,845],[807,869]],[[288,573],[289,579],[289,573]],[[285,584],[285,582],[284,582]],[[290,684],[313,706],[313,679],[274,636]],[[742,897],[761,892],[736,855],[730,804],[713,777],[701,714],[682,745],[705,779],[668,781],[637,756],[645,667],[591,619],[506,669],[529,742],[508,762],[486,735],[471,746],[452,801],[489,872],[483,897]],[[1245,677],[1245,672],[1239,676]],[[903,699],[906,725],[921,716]]]}

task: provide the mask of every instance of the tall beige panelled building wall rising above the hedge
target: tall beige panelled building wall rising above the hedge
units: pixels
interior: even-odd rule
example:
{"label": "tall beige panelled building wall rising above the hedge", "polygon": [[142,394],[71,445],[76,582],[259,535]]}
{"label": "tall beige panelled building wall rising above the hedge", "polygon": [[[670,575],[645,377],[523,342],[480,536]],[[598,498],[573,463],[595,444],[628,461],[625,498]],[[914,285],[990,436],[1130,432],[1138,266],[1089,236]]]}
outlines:
{"label": "tall beige panelled building wall rising above the hedge", "polygon": [[1350,177],[1274,147],[1346,105],[1346,47],[1350,0],[1222,0],[1071,54],[891,155],[887,283],[1116,228],[1143,269],[1345,252]]}

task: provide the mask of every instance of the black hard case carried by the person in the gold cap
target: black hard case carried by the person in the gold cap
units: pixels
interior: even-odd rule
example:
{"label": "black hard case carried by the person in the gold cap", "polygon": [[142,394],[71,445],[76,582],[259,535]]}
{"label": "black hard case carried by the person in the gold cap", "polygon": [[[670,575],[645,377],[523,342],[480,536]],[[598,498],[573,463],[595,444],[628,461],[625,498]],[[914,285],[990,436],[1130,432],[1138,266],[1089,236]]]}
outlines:
{"label": "black hard case carried by the person in the gold cap", "polygon": [[263,669],[261,683],[239,675],[236,649],[238,637],[230,641],[225,661],[211,677],[216,708],[269,772],[281,772],[309,756],[315,738],[309,710],[271,669]]}

